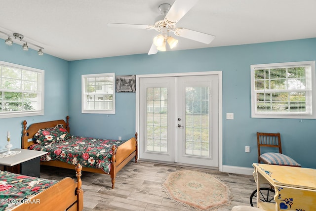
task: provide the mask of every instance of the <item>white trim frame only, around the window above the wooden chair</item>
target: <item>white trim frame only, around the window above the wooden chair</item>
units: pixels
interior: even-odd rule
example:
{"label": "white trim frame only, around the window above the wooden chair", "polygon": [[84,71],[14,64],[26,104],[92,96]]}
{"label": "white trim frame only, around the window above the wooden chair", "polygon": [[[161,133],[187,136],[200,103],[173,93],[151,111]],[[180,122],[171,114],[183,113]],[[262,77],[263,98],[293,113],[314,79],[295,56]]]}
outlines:
{"label": "white trim frame only, around the window above the wooden chair", "polygon": [[[258,68],[285,68],[293,66],[311,66],[311,112],[312,114],[297,114],[297,113],[280,113],[272,114],[268,112],[258,113],[256,111],[256,92],[255,92],[255,80],[254,71]],[[271,64],[256,64],[250,65],[251,70],[251,118],[279,118],[279,119],[316,119],[316,73],[315,73],[315,61],[302,61],[302,62],[284,62],[284,63],[271,63]]]}

